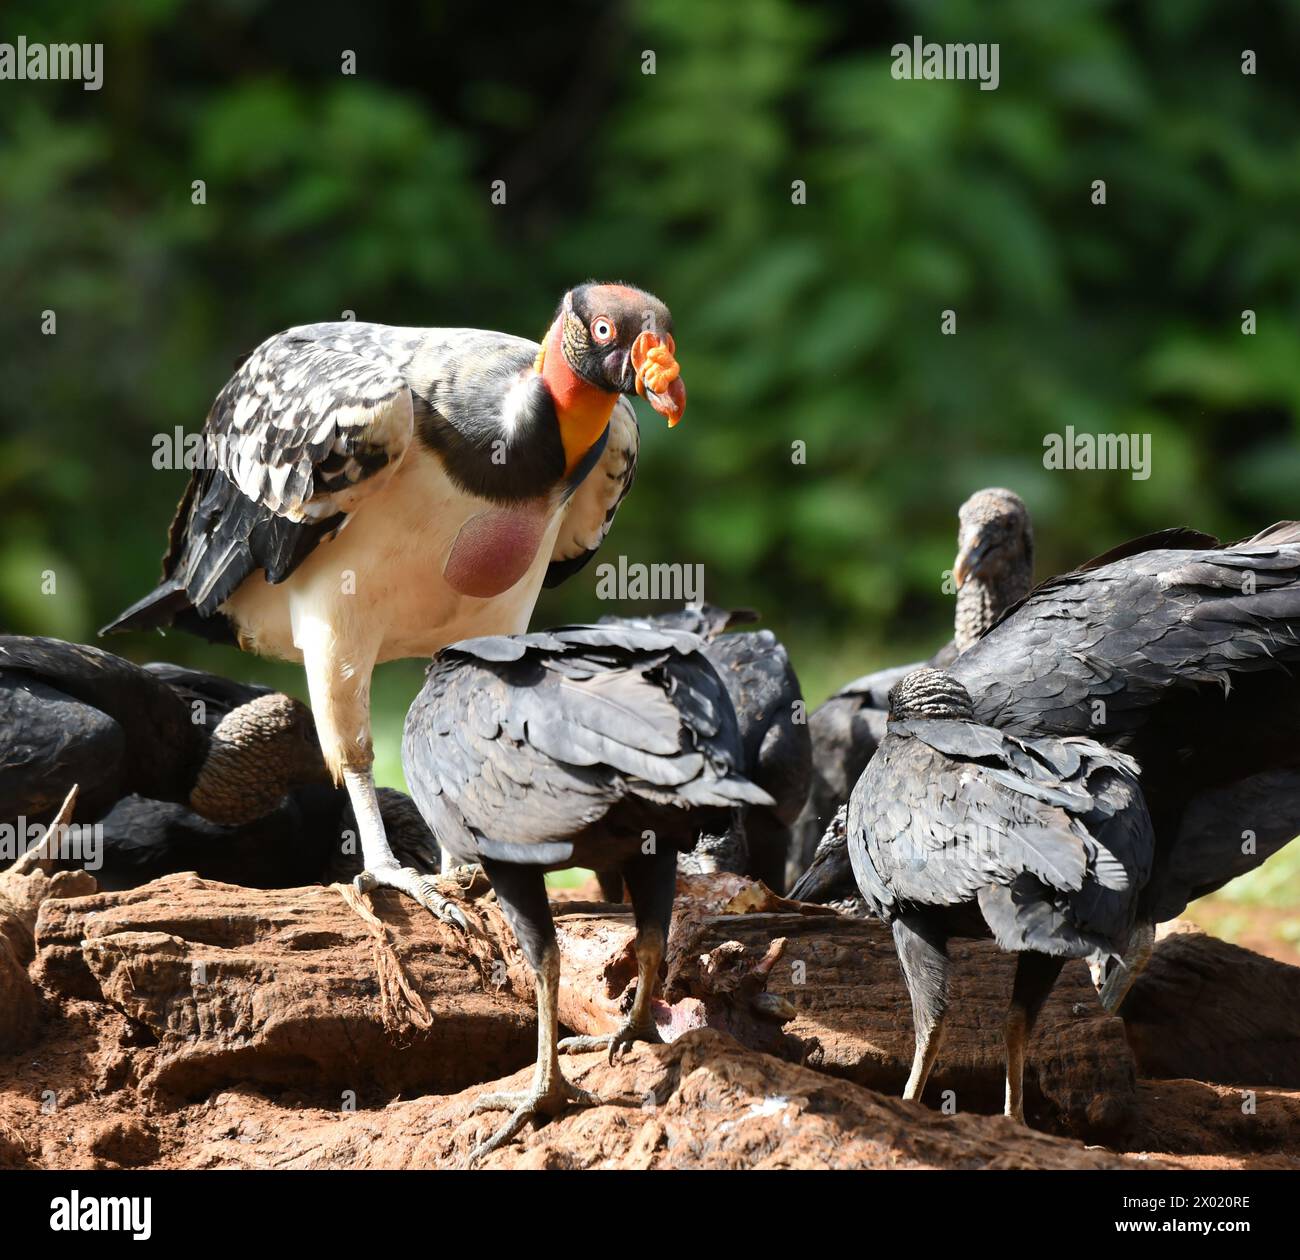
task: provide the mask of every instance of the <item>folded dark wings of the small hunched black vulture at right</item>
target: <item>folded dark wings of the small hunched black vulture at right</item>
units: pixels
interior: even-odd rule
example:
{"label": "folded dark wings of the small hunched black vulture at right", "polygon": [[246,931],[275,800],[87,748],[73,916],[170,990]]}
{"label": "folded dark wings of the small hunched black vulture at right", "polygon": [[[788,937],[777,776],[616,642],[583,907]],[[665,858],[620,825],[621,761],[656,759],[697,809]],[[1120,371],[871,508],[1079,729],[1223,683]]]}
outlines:
{"label": "folded dark wings of the small hunched black vulture at right", "polygon": [[1144,819],[1122,754],[911,720],[890,724],[854,788],[846,835],[881,917],[978,901],[1004,948],[1083,956],[1127,941],[1150,862]]}

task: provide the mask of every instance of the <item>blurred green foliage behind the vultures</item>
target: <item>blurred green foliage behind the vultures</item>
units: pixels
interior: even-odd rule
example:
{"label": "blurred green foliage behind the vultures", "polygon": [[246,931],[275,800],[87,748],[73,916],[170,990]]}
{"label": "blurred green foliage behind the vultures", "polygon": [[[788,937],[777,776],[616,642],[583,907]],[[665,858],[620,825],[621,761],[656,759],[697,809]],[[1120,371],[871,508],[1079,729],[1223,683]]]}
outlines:
{"label": "blurred green foliage behind the vultures", "polygon": [[[18,34],[101,42],[105,79],[0,83],[5,628],[86,638],[151,586],[185,480],[152,438],[269,333],[540,335],[592,276],[671,304],[690,390],[672,434],[642,416],[612,547],[705,563],[814,701],[942,641],[982,485],[1028,501],[1044,573],[1297,514],[1295,3],[8,0]],[[914,34],[997,42],[1001,86],[894,81]],[[1150,433],[1150,480],[1046,472],[1066,425]],[[594,583],[537,624],[607,611]],[[302,692],[179,635],[114,646]],[[380,680],[390,779],[417,679]]]}

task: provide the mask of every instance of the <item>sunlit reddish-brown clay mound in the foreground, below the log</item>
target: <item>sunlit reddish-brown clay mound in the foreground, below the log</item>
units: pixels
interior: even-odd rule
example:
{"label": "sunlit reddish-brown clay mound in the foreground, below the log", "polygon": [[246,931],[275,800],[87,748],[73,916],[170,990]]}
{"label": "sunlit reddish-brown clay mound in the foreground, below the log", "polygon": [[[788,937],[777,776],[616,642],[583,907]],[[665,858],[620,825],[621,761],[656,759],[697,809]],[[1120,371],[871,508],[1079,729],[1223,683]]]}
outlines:
{"label": "sunlit reddish-brown clay mound in the foreground, below the log", "polygon": [[[122,1042],[127,1045],[122,1045]],[[480,1094],[521,1088],[530,1069],[455,1095],[347,1112],[320,1096],[250,1086],[161,1104],[130,1083],[126,1021],[70,1003],[0,1084],[0,1166],[439,1168],[465,1160],[504,1117],[468,1114]],[[95,1045],[87,1062],[86,1051]],[[607,1099],[525,1131],[489,1168],[1118,1168],[1126,1161],[1002,1118],[944,1117],[746,1051],[724,1034],[689,1032],[601,1055],[568,1070]],[[43,1108],[42,1099],[46,1099]]]}

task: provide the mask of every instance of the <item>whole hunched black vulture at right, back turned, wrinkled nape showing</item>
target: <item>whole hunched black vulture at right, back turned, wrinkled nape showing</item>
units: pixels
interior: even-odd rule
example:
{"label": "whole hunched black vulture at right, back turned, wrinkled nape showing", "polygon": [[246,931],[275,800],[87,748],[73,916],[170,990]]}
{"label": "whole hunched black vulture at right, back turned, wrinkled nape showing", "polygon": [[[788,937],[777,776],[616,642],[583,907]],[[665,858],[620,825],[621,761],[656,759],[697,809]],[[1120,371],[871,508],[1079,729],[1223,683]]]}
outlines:
{"label": "whole hunched black vulture at right, back turned, wrinkled nape showing", "polygon": [[1079,736],[1015,736],[974,718],[942,670],[889,693],[885,737],[849,797],[849,857],[892,928],[919,1099],[948,1005],[948,941],[1018,954],[1006,1017],[1006,1114],[1023,1121],[1024,1047],[1067,958],[1128,948],[1154,840],[1132,758]]}

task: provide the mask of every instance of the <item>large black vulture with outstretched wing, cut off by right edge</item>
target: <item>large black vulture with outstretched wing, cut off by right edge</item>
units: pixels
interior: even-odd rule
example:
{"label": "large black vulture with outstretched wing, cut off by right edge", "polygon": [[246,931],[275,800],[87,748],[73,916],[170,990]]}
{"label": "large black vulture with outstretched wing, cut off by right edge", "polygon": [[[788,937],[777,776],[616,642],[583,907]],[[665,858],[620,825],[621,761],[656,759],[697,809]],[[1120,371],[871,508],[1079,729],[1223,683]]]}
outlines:
{"label": "large black vulture with outstretched wing, cut off by right edge", "polygon": [[1154,925],[1300,833],[1300,524],[1231,546],[1166,531],[1049,579],[952,672],[978,720],[1132,754],[1156,860],[1118,1009]]}

